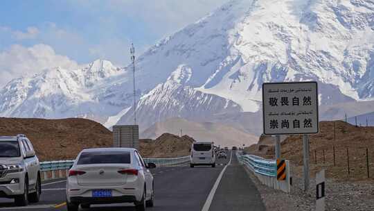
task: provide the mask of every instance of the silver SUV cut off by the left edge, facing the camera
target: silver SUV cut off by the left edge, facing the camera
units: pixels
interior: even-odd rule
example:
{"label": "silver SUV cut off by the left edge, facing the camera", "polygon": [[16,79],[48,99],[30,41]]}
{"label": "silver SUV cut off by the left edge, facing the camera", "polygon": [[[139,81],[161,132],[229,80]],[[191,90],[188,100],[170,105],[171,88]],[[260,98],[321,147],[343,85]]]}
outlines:
{"label": "silver SUV cut off by the left edge, facing the camera", "polygon": [[30,140],[22,134],[0,136],[0,197],[26,206],[41,193],[40,164]]}

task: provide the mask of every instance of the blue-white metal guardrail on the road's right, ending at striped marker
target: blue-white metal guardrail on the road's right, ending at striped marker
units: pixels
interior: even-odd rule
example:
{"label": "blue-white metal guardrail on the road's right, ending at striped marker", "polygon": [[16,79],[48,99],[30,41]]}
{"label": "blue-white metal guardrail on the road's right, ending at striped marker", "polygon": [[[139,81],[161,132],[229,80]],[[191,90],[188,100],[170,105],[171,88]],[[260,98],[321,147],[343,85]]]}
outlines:
{"label": "blue-white metal guardrail on the road's right, ending at striped marker", "polygon": [[237,153],[237,156],[240,162],[257,174],[276,177],[276,160],[267,160],[256,155],[240,155],[240,153]]}

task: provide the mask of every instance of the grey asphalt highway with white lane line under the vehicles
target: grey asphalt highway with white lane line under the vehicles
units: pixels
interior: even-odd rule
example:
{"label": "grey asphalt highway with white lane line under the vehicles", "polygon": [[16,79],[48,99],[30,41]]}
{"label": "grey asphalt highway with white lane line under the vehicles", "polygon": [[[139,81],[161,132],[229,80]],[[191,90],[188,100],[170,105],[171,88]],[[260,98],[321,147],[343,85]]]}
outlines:
{"label": "grey asphalt highway with white lane line under the vehicles", "polygon": [[[231,160],[230,160],[231,158]],[[231,161],[231,162],[230,162]],[[226,165],[227,164],[227,165]],[[155,205],[152,211],[265,211],[260,194],[235,156],[217,159],[217,167],[159,167],[152,169]],[[0,199],[1,210],[66,210],[65,181],[42,186],[39,203],[15,207],[10,199]],[[83,209],[81,209],[83,210]],[[89,210],[135,210],[132,204],[94,205]]]}

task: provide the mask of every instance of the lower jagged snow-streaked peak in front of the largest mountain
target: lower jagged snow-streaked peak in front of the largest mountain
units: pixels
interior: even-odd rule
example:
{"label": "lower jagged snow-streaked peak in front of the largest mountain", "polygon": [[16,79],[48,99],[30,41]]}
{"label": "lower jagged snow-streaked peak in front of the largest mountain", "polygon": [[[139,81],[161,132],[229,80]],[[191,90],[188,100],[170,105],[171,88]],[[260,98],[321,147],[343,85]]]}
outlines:
{"label": "lower jagged snow-streaked peak in front of the largest mountain", "polygon": [[[141,97],[136,110],[138,124],[143,130],[170,117],[206,120],[226,112],[241,112],[237,103],[215,94],[205,94],[190,87],[191,69],[181,65],[165,83],[157,85]],[[134,122],[134,110],[127,112],[118,124]]]}

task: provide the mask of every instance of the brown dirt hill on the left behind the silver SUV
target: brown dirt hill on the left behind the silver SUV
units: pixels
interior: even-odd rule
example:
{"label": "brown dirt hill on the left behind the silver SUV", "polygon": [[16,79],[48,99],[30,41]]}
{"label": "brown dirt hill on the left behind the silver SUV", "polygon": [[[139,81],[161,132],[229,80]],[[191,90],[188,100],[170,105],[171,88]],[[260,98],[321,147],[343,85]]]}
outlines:
{"label": "brown dirt hill on the left behind the silver SUV", "polygon": [[88,119],[0,118],[0,135],[25,134],[40,160],[73,159],[84,148],[112,146],[112,132]]}

